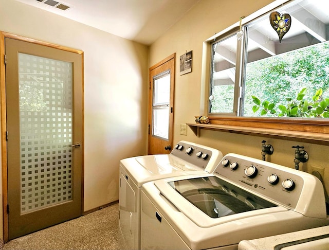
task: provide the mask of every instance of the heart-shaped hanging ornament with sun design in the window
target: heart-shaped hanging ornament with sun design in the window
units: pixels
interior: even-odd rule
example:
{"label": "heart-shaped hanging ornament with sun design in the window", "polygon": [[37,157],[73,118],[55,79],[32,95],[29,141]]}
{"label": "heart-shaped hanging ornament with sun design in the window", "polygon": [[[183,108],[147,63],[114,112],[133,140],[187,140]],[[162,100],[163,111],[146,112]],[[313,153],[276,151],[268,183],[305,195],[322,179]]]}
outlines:
{"label": "heart-shaped hanging ornament with sun design in the window", "polygon": [[279,35],[279,41],[289,31],[291,26],[291,16],[288,13],[281,14],[278,11],[273,11],[269,15],[269,21],[272,28],[277,31]]}

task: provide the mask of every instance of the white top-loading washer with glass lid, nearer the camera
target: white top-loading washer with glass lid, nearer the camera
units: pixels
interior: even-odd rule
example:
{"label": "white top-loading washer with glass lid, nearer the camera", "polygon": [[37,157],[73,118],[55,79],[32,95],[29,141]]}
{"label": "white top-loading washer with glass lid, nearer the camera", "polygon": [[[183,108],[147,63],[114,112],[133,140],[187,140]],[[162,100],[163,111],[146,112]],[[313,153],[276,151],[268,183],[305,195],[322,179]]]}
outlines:
{"label": "white top-loading washer with glass lid, nearer the camera", "polygon": [[237,154],[213,174],[144,184],[141,210],[141,249],[237,249],[329,224],[317,177]]}

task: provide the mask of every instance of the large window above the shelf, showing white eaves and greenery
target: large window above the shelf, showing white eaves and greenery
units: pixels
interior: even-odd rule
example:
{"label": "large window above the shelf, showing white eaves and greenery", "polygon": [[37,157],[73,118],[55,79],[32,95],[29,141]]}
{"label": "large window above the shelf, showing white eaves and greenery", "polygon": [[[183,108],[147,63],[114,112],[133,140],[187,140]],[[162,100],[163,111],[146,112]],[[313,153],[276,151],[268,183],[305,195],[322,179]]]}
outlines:
{"label": "large window above the shelf, showing white eaves and greenery", "polygon": [[281,43],[269,13],[244,24],[241,41],[232,31],[212,43],[209,115],[329,117],[329,4],[290,1],[275,11],[291,16]]}

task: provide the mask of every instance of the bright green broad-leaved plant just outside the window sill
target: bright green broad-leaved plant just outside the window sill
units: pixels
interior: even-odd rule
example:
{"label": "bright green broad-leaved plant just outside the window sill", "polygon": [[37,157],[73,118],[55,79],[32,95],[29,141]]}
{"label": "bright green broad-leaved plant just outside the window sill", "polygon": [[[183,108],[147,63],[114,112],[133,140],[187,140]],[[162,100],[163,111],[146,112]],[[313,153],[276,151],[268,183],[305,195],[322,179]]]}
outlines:
{"label": "bright green broad-leaved plant just outside the window sill", "polygon": [[329,98],[322,97],[322,89],[316,91],[312,100],[305,99],[306,94],[305,87],[297,94],[296,99],[286,98],[285,104],[261,101],[258,97],[251,96],[255,104],[252,111],[256,113],[260,110],[261,116],[329,118]]}

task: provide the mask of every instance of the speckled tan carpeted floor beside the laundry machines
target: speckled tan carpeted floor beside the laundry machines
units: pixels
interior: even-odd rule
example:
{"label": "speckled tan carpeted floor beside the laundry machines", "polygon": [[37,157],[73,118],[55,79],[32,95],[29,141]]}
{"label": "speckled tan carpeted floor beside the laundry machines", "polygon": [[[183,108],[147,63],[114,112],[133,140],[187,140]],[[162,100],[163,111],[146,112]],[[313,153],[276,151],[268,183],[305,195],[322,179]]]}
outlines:
{"label": "speckled tan carpeted floor beside the laundry machines", "polygon": [[122,249],[118,234],[119,204],[11,240],[4,250]]}

